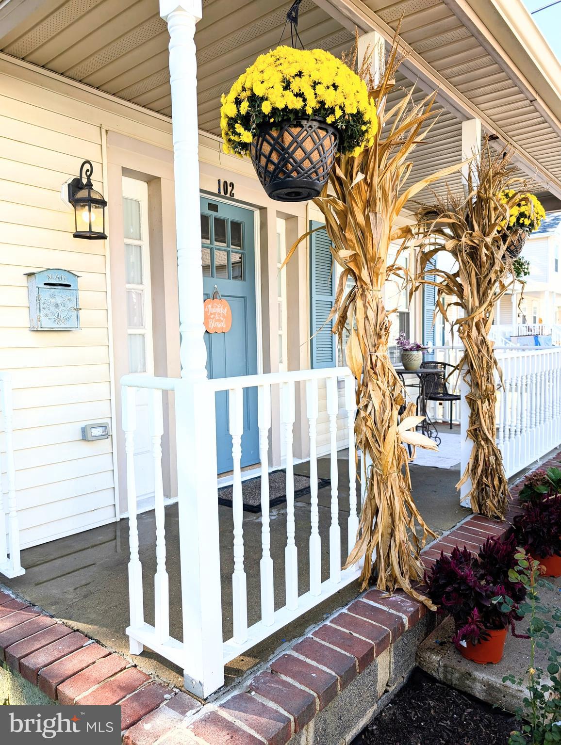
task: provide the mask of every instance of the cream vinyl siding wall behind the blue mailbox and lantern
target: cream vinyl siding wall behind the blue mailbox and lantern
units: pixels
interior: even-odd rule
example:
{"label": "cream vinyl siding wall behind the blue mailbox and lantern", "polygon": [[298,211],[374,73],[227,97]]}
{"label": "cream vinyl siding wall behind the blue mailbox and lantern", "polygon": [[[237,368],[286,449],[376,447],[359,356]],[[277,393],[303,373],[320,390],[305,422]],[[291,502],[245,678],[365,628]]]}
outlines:
{"label": "cream vinyl siding wall behind the blue mailbox and lantern", "polygon": [[[81,440],[86,422],[120,426],[111,406],[108,247],[72,237],[60,187],[89,159],[95,188],[106,192],[104,128],[171,148],[171,124],[7,60],[0,91],[0,370],[13,378],[25,548],[115,520],[112,437]],[[81,330],[29,331],[25,273],[47,268],[80,275]]]}

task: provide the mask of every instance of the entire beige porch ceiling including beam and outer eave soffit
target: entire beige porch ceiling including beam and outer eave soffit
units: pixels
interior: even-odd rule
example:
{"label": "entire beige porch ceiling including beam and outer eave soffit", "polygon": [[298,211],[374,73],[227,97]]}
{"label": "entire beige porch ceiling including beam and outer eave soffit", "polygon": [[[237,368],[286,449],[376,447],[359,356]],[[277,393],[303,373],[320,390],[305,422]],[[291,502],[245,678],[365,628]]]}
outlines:
{"label": "entire beige porch ceiling including beam and outer eave soffit", "polygon": [[[510,9],[522,7],[519,0],[506,1]],[[561,66],[553,57],[530,85],[519,69],[524,50],[518,50],[516,64],[509,56],[518,48],[516,34],[507,34],[496,8],[504,2],[303,0],[299,34],[308,48],[340,54],[352,42],[355,25],[388,38],[402,18],[400,33],[413,54],[399,83],[409,87],[418,80],[418,98],[440,86],[440,116],[414,154],[413,177],[457,162],[461,121],[479,115],[486,132],[498,134],[498,147],[516,146],[522,171],[541,185],[536,190],[561,197],[561,95],[550,80],[556,69],[561,79]],[[279,42],[290,5],[290,0],[203,0],[195,36],[200,129],[219,133],[221,93],[256,55]],[[536,45],[542,37],[529,23]],[[158,0],[0,0],[1,51],[171,116],[168,38]],[[531,55],[528,59],[527,75],[533,64]],[[459,186],[460,177],[456,180]]]}

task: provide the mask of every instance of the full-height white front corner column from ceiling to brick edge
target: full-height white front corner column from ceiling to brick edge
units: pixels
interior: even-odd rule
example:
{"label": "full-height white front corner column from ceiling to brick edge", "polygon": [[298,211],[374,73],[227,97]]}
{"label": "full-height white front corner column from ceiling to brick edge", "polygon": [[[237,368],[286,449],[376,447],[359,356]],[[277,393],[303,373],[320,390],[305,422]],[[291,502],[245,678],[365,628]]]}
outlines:
{"label": "full-height white front corner column from ceiling to brick edge", "polygon": [[160,0],[173,108],[182,381],[175,388],[183,673],[207,697],[224,685],[215,393],[206,383],[195,25],[201,0]]}

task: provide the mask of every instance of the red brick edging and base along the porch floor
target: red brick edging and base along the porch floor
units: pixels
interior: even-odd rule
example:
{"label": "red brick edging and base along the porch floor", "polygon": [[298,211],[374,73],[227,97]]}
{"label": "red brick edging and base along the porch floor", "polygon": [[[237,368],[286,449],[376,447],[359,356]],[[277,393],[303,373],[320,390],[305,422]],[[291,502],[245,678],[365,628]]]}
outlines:
{"label": "red brick edging and base along the porch floor", "polygon": [[[560,466],[561,455],[543,467]],[[422,552],[501,536],[519,512],[513,486],[507,522],[475,515]],[[349,743],[387,703],[415,665],[436,614],[411,597],[369,590],[294,641],[233,691],[212,703],[150,679],[124,657],[0,592],[0,659],[60,704],[118,704],[124,745],[335,745]]]}

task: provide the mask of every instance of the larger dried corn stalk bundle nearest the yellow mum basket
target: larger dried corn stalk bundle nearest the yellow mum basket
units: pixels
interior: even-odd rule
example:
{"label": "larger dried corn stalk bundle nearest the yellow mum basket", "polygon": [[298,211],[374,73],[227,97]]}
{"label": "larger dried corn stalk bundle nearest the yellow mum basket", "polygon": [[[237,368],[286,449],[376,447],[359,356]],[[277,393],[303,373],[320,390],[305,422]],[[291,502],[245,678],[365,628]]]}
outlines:
{"label": "larger dried corn stalk bundle nearest the yellow mum basket", "polygon": [[[403,60],[396,39],[378,85],[370,75],[371,57],[370,51],[365,54],[358,73],[367,80],[377,104],[379,126],[373,145],[357,156],[337,156],[329,188],[314,200],[325,217],[332,255],[342,267],[331,317],[340,343],[343,335],[347,338],[346,363],[358,381],[356,445],[372,463],[357,542],[346,566],[364,557],[363,588],[374,565],[378,589],[401,587],[430,606],[411,586],[422,577],[419,551],[426,537],[434,533],[413,502],[404,443],[433,450],[437,446],[415,431],[422,417],[414,416],[413,404],[405,405],[402,383],[390,363],[390,318],[382,288],[387,277],[403,276],[401,268],[395,261],[390,264],[388,258],[391,241],[410,238],[410,232],[396,227],[403,206],[433,180],[451,174],[460,165],[405,188],[413,165],[408,157],[431,127],[428,118],[434,95],[413,104],[411,91],[388,110],[387,95]],[[346,63],[355,66],[355,62],[354,52]],[[296,247],[294,244],[287,261]],[[348,291],[349,279],[352,289]]]}

